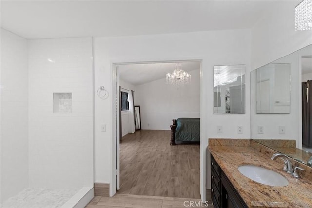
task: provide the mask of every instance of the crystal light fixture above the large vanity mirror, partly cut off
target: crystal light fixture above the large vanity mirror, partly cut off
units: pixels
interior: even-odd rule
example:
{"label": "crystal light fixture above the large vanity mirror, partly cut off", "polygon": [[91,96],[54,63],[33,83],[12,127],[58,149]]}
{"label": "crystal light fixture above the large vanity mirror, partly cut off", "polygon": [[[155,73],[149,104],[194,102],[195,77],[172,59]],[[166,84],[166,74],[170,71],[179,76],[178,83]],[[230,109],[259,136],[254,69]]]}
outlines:
{"label": "crystal light fixture above the large vanity mirror, partly cut off", "polygon": [[312,0],[303,0],[294,8],[295,30],[312,29]]}

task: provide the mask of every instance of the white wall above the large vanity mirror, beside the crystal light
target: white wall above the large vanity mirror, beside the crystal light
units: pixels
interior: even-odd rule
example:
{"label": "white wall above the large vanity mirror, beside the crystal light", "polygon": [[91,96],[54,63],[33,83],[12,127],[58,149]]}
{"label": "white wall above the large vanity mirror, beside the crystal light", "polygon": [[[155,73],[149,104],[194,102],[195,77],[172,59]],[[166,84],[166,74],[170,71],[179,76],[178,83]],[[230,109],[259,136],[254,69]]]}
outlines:
{"label": "white wall above the large vanity mirror, beside the crystal light", "polygon": [[300,2],[277,3],[253,26],[252,70],[312,44],[312,30],[294,29],[294,7]]}

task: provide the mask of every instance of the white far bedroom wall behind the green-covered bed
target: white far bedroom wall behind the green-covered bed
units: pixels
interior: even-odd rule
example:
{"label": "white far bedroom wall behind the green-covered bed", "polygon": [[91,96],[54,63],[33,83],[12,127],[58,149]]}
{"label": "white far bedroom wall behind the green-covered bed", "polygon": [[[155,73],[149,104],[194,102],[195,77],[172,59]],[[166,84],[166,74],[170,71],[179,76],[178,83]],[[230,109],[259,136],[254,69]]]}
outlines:
{"label": "white far bedroom wall behind the green-covered bed", "polygon": [[200,117],[200,69],[190,72],[188,85],[166,84],[165,78],[137,86],[142,129],[170,130],[172,119]]}

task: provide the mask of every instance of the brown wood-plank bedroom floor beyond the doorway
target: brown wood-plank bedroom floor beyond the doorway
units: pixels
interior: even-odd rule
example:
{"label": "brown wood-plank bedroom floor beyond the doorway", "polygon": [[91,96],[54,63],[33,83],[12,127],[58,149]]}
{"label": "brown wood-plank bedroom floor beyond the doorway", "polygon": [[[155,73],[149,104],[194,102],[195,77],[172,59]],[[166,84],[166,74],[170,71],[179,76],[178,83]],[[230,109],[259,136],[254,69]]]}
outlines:
{"label": "brown wood-plank bedroom floor beyond the doorway", "polygon": [[141,130],[120,143],[117,193],[200,198],[200,145],[170,145],[168,130]]}

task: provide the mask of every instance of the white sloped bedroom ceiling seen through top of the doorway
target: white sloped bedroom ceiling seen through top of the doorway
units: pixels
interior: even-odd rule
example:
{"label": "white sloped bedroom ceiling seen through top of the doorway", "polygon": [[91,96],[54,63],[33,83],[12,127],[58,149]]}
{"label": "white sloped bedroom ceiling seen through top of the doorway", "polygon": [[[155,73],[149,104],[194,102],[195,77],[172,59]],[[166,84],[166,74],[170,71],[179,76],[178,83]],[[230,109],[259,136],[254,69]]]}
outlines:
{"label": "white sloped bedroom ceiling seen through top of the doorway", "polygon": [[[186,72],[200,69],[200,62],[180,62]],[[140,85],[163,78],[169,72],[172,73],[176,63],[145,63],[119,65],[120,78],[132,85]]]}

